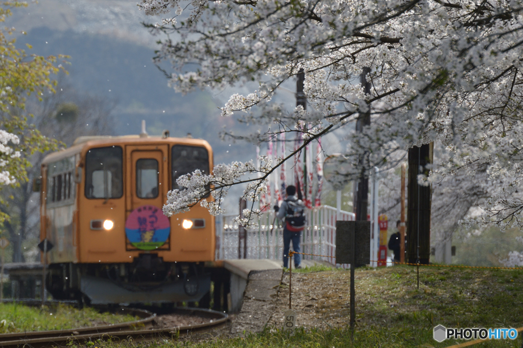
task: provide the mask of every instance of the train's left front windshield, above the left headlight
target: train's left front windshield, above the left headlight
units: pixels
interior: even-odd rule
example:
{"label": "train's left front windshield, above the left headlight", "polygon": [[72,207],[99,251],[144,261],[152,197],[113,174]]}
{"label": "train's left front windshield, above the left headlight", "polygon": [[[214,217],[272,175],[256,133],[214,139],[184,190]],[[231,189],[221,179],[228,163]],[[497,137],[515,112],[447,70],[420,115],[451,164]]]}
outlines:
{"label": "train's left front windshield, above the left headlight", "polygon": [[85,196],[120,198],[123,195],[121,147],[90,149],[85,156]]}

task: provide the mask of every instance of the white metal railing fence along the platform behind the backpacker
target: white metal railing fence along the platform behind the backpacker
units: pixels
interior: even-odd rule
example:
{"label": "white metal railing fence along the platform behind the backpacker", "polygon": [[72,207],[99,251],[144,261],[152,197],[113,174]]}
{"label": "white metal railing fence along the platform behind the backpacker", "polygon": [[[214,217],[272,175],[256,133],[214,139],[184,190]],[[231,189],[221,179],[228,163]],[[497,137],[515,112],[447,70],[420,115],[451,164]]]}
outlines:
{"label": "white metal railing fence along the platform behind the backpacker", "polygon": [[[326,257],[302,255],[305,260],[322,260],[335,264],[336,220],[353,221],[354,213],[340,211],[329,206],[315,207],[306,211],[307,226],[302,232],[301,252],[327,255]],[[244,254],[243,241],[238,252],[238,225],[233,222],[237,215],[221,215],[216,219],[217,259],[238,259]],[[283,259],[283,221],[274,220],[274,211],[266,212],[256,221],[256,228],[247,230],[247,259]]]}

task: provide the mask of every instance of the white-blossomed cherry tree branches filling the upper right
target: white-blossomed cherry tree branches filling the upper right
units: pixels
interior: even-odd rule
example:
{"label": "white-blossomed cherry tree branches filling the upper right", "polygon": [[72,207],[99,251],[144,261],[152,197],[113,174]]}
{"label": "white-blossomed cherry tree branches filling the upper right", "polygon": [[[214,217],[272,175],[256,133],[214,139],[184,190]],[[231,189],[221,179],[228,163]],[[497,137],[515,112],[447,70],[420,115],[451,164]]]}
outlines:
{"label": "white-blossomed cherry tree branches filling the upper right", "polygon": [[[269,130],[225,135],[266,141],[301,133],[304,146],[345,129],[353,177],[392,168],[408,148],[435,141],[442,160],[420,182],[484,173],[482,185],[491,188],[482,201],[485,221],[523,223],[520,0],[142,0],[139,7],[164,17],[150,26],[167,35],[155,59],[172,65],[176,91],[257,82],[252,93],[232,95],[221,114],[241,113]],[[301,71],[308,108],[288,112],[274,96]],[[369,126],[348,128],[369,110]],[[164,211],[201,202],[216,214],[226,189],[242,182],[255,199],[279,164],[233,163],[180,177],[187,189],[171,192]],[[254,172],[261,178],[241,177]],[[214,203],[201,200],[206,187]]]}

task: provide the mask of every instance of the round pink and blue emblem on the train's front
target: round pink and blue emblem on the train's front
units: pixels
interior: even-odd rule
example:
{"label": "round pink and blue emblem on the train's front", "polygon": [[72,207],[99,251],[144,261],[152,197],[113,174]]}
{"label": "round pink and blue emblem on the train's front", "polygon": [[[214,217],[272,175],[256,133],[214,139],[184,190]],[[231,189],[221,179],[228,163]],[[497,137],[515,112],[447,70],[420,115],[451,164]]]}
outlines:
{"label": "round pink and blue emblem on the train's front", "polygon": [[154,250],[164,245],[169,238],[170,223],[162,209],[141,206],[134,209],[126,221],[127,239],[141,250]]}

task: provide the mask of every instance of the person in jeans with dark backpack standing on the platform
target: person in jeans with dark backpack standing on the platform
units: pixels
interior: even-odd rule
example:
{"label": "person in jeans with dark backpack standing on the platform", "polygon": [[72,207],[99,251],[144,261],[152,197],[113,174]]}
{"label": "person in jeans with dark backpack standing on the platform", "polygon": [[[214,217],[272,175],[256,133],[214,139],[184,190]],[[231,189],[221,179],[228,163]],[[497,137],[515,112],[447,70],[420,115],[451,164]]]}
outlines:
{"label": "person in jeans with dark backpack standing on the platform", "polygon": [[[287,198],[281,203],[281,207],[274,206],[278,220],[285,217],[283,226],[283,267],[289,265],[289,249],[292,241],[292,250],[301,252],[300,239],[301,231],[305,228],[305,205],[296,195],[296,187],[289,185],[286,188]],[[301,255],[294,254],[294,266],[301,268]]]}

